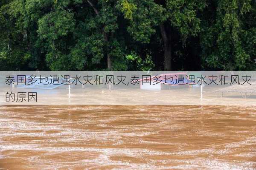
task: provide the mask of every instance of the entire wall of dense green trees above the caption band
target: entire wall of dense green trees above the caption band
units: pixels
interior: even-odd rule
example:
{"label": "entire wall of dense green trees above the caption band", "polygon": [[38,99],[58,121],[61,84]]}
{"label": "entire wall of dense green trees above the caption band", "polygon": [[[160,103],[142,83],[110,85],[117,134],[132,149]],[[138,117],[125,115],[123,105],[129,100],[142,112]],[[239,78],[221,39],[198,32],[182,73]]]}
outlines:
{"label": "entire wall of dense green trees above the caption band", "polygon": [[1,70],[256,70],[256,0],[1,0]]}

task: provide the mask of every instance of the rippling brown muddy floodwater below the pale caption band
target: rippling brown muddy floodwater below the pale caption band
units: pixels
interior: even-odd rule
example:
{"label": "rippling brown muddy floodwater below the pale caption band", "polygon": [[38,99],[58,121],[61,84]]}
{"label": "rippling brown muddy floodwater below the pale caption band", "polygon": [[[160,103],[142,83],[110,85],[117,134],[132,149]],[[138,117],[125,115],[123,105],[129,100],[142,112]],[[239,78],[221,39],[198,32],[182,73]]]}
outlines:
{"label": "rippling brown muddy floodwater below the pale caption band", "polygon": [[256,170],[256,107],[0,106],[0,170]]}

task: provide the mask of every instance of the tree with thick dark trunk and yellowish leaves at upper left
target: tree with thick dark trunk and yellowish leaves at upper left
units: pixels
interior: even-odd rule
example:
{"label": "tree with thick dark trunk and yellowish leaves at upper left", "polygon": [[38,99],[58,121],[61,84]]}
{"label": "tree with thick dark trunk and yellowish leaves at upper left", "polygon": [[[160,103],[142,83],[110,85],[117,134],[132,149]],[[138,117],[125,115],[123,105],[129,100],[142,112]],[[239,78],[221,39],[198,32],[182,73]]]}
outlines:
{"label": "tree with thick dark trunk and yellowish leaves at upper left", "polygon": [[160,29],[164,70],[172,70],[173,37],[180,34],[185,45],[188,36],[197,36],[201,31],[198,12],[205,6],[205,0],[122,0],[121,11],[130,20],[128,31],[137,41],[148,43]]}

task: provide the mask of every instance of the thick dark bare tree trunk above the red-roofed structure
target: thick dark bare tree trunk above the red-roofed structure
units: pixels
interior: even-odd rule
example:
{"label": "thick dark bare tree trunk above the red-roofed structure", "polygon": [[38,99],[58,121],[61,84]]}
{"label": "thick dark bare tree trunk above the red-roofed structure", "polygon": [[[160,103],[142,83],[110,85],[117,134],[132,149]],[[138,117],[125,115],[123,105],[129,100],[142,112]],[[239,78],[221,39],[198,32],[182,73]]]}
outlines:
{"label": "thick dark bare tree trunk above the red-roofed structure", "polygon": [[160,31],[161,31],[163,46],[164,46],[164,71],[171,71],[172,70],[172,44],[163,24],[160,25]]}

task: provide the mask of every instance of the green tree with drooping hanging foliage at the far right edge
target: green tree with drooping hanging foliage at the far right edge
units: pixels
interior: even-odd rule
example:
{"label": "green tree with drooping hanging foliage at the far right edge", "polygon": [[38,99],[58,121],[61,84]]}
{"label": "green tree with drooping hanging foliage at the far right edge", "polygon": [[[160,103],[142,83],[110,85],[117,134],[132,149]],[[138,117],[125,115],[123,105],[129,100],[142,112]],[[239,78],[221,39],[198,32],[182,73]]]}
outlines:
{"label": "green tree with drooping hanging foliage at the far right edge", "polygon": [[201,47],[203,67],[255,70],[256,2],[209,1],[203,15]]}

